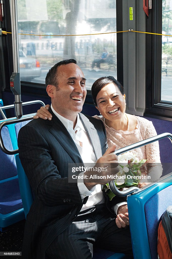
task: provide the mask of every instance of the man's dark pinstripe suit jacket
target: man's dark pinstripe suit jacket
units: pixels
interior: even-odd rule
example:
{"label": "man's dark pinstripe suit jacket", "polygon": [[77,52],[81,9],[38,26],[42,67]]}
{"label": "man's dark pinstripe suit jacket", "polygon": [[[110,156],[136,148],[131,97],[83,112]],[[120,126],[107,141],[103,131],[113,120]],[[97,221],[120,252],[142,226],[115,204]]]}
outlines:
{"label": "man's dark pinstripe suit jacket", "polygon": [[[79,116],[99,159],[107,148],[104,125],[101,120],[81,113]],[[32,120],[22,127],[18,146],[34,195],[25,225],[22,258],[43,259],[48,246],[77,217],[88,199],[82,202],[77,183],[68,182],[68,163],[83,161],[70,134],[54,114],[51,121]],[[122,200],[114,197],[113,203]]]}

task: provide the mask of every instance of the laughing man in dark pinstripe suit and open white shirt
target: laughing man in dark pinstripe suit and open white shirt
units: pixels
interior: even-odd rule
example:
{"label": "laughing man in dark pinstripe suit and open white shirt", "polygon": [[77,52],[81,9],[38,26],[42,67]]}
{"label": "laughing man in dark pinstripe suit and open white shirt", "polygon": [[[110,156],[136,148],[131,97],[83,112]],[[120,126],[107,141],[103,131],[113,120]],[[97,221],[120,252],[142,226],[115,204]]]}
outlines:
{"label": "laughing man in dark pinstripe suit and open white shirt", "polygon": [[[118,206],[117,217],[112,210],[124,198],[114,197],[110,203],[101,190],[107,175],[118,171],[117,156],[111,153],[116,146],[106,150],[102,121],[80,113],[85,81],[75,60],[57,63],[46,76],[52,120],[32,120],[19,132],[19,156],[34,196],[25,226],[24,259],[91,259],[93,244],[132,256],[126,205]],[[72,182],[68,163],[109,165],[98,173],[106,179],[92,180],[88,170],[76,174],[86,176],[81,182]]]}

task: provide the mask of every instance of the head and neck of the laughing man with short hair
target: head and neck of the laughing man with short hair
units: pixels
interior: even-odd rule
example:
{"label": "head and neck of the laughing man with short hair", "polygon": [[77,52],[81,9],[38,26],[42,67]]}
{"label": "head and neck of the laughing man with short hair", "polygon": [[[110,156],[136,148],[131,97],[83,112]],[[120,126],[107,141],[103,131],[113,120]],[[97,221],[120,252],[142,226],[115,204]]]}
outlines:
{"label": "head and neck of the laughing man with short hair", "polygon": [[[57,74],[56,68],[58,68]],[[64,63],[60,66],[57,63],[50,69],[45,79],[53,109],[73,121],[74,127],[77,114],[82,111],[87,94],[85,82],[82,70],[75,63]]]}

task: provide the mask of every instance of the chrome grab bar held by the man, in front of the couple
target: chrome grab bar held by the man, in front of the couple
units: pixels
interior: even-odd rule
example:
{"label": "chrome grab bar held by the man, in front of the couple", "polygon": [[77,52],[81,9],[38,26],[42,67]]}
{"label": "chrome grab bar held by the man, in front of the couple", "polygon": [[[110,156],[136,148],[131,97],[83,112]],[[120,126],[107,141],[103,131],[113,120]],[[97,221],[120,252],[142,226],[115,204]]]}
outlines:
{"label": "chrome grab bar held by the man, in front of the couple", "polygon": [[[142,146],[145,146],[145,145],[148,145],[154,141],[157,141],[157,140],[160,140],[160,139],[164,139],[164,138],[169,138],[171,140],[171,143],[172,143],[172,134],[171,133],[162,133],[160,135],[157,135],[157,136],[154,136],[154,137],[151,137],[149,139],[145,139],[145,140],[142,140],[142,141],[139,141],[137,143],[134,143],[132,145],[129,145],[127,147],[123,147],[123,148],[120,148],[118,150],[115,150],[113,154],[115,155],[121,155],[127,151],[131,151],[135,148],[138,148],[138,147],[142,147]],[[130,187],[128,188],[127,190],[125,191],[119,191],[114,183],[114,181],[111,181],[109,182],[109,187],[111,189],[111,191],[116,194],[117,196],[119,197],[124,197],[124,196],[127,196],[129,194],[132,194],[134,192],[138,192],[140,191],[140,189],[138,187]]]}

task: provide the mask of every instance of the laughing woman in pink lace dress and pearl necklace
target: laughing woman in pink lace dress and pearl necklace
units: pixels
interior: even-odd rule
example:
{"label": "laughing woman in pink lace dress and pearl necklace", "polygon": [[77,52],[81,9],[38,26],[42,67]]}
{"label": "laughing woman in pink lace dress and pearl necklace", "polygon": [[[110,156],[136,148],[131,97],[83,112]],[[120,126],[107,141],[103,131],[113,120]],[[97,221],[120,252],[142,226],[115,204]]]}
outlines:
{"label": "laughing woman in pink lace dress and pearl necklace", "polygon": [[[92,86],[92,97],[100,116],[94,118],[102,120],[107,133],[108,146],[117,145],[117,149],[129,146],[138,141],[157,135],[151,121],[142,117],[125,113],[126,102],[122,85],[113,76],[101,77]],[[49,105],[41,107],[37,116],[43,119],[51,119],[48,112]],[[162,166],[159,155],[158,141],[137,148],[132,153],[139,160],[146,159],[146,166],[141,170],[142,175],[151,176],[155,181],[162,175]],[[139,183],[143,187],[146,183]]]}

